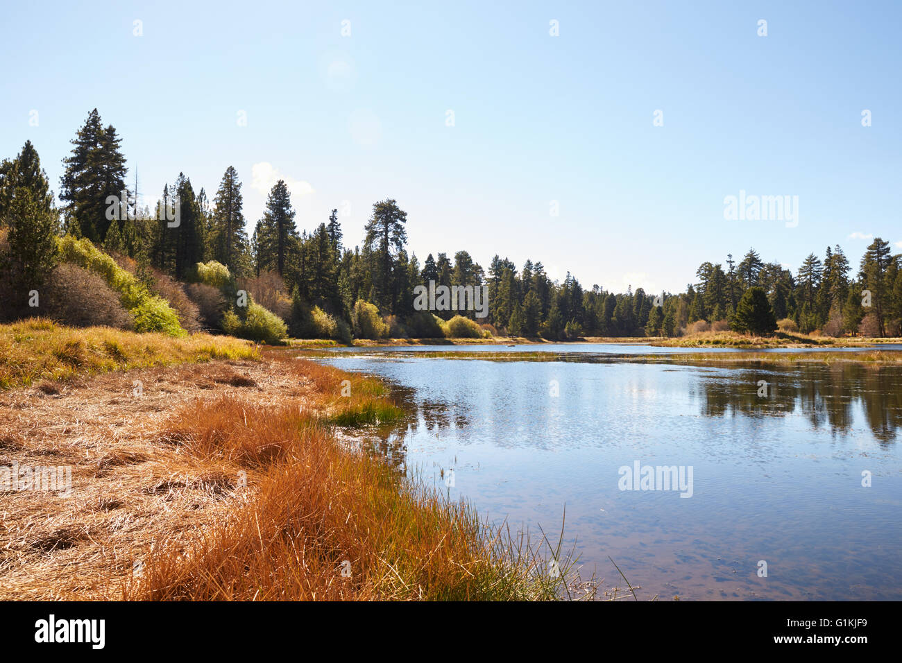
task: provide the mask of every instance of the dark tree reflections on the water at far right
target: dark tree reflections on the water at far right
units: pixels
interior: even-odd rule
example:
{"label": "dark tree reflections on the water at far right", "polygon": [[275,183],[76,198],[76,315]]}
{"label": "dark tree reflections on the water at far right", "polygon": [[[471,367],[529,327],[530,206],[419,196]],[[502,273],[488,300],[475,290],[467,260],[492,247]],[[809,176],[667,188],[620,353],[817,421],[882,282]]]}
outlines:
{"label": "dark tree reflections on the water at far right", "polygon": [[[768,382],[767,397],[759,396],[760,380]],[[798,364],[786,369],[755,364],[727,379],[710,377],[700,384],[702,411],[709,417],[776,417],[800,410],[815,428],[829,426],[837,434],[851,429],[852,409],[858,405],[880,441],[894,440],[902,427],[902,370],[897,366]]]}

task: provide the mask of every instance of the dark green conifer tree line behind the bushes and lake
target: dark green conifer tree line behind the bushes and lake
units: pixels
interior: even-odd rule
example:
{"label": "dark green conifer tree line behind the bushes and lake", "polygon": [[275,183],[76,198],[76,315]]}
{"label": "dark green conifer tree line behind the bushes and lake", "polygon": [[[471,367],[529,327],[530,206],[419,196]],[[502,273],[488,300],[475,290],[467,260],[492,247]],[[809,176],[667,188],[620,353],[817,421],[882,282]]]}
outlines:
{"label": "dark green conifer tree line behind the bushes and lake", "polygon": [[20,291],[40,284],[52,262],[52,237],[69,233],[178,281],[190,280],[198,262],[211,260],[236,277],[266,277],[290,301],[290,308],[280,312],[285,318],[320,308],[350,321],[359,300],[370,302],[394,322],[395,331],[410,336],[426,333],[414,308],[414,290],[430,282],[448,288],[485,286],[486,318],[477,318],[475,310],[433,312],[444,319],[463,315],[512,336],[678,336],[730,327],[769,333],[778,324],[831,336],[899,334],[902,256],[879,238],[857,272],[839,245],[826,247],[823,258],[809,254],[795,274],[750,249],[738,263],[732,255],[723,263],[704,262],[696,281],[678,294],[631,287],[614,293],[598,285],[586,289],[569,272],[563,281],[554,281],[541,262],[527,260],[518,268],[500,255],[487,271],[466,251],[429,253],[420,265],[408,253],[407,213],[392,198],[373,205],[364,242],[352,249],[342,243],[335,209],[309,232],[300,229],[282,180],[272,187],[248,237],[242,184],[232,166],[212,201],[179,173],[163,187],[154,209],[141,208],[136,191],[126,187],[120,144],[115,127],[105,127],[97,110],[91,111],[63,161],[60,210],[32,143],[0,164],[0,226],[7,228],[7,262],[15,262],[7,269],[13,270]]}

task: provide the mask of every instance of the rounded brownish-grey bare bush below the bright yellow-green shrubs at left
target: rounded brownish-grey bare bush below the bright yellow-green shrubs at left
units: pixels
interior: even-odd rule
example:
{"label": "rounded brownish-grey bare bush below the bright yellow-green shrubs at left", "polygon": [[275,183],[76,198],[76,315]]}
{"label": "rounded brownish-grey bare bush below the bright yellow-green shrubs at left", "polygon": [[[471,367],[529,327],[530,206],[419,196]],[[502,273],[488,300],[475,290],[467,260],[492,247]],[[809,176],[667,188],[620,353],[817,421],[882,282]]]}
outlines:
{"label": "rounded brownish-grey bare bush below the bright yellow-green shrubs at left", "polygon": [[57,265],[47,280],[39,310],[69,327],[131,329],[132,316],[100,276],[74,264]]}

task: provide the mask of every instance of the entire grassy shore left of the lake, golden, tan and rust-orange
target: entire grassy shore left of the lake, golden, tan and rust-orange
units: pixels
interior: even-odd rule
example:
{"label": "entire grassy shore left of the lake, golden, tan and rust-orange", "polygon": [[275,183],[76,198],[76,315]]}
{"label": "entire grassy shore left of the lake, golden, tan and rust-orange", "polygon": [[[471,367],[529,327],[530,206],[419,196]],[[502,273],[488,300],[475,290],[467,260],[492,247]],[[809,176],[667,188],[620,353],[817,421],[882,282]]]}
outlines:
{"label": "entire grassy shore left of the lake, golden, tan and rust-orange", "polygon": [[[543,573],[529,541],[348,444],[345,432],[404,416],[380,381],[230,338],[43,321],[0,333],[12,350],[0,465],[72,470],[69,499],[4,493],[0,598],[551,600],[563,591],[567,574]],[[71,341],[81,360],[60,369],[57,350]],[[140,395],[130,394],[134,380]]]}

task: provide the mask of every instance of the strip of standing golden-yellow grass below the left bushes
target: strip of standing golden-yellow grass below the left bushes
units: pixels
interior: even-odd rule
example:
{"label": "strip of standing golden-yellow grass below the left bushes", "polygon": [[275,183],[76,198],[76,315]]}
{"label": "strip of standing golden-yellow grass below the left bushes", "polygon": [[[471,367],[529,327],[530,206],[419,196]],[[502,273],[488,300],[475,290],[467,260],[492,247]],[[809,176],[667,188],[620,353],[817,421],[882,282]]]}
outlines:
{"label": "strip of standing golden-yellow grass below the left bushes", "polygon": [[32,318],[0,325],[0,389],[115,370],[259,356],[253,344],[231,336],[173,338],[111,327],[63,327]]}

